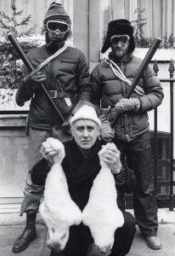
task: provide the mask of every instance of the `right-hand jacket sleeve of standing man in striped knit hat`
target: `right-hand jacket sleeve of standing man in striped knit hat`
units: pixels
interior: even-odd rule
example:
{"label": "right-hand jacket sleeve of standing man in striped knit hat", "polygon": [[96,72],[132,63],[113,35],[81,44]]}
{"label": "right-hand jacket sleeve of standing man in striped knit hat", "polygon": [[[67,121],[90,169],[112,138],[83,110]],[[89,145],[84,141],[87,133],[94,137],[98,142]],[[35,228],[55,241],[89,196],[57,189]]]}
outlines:
{"label": "right-hand jacket sleeve of standing man in striped knit hat", "polygon": [[77,84],[77,102],[91,102],[92,87],[90,84],[90,76],[88,72],[88,64],[85,55],[81,52],[76,69],[76,84]]}

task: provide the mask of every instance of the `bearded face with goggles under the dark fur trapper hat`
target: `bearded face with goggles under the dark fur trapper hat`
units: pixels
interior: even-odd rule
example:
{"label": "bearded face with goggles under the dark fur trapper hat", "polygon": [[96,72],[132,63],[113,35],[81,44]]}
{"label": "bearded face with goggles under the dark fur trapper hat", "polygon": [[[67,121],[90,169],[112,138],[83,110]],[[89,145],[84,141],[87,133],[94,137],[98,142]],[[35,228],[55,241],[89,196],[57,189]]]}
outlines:
{"label": "bearded face with goggles under the dark fur trapper hat", "polygon": [[123,40],[122,41],[122,35],[121,40],[120,38],[113,38],[111,40],[111,49],[114,55],[116,55],[116,58],[122,59],[125,55],[127,55],[127,50],[129,47],[129,40]]}

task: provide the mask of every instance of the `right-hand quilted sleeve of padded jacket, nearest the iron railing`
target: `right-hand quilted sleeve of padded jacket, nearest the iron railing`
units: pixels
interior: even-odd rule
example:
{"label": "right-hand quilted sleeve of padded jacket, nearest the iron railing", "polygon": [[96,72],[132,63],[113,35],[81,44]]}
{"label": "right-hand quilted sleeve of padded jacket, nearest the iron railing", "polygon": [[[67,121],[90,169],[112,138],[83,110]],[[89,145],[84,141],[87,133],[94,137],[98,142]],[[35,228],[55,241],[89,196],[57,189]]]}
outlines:
{"label": "right-hand quilted sleeve of padded jacket, nearest the iron railing", "polygon": [[140,96],[140,113],[155,109],[164,97],[163,89],[159,79],[155,76],[153,69],[149,66],[144,73],[144,92],[145,96]]}

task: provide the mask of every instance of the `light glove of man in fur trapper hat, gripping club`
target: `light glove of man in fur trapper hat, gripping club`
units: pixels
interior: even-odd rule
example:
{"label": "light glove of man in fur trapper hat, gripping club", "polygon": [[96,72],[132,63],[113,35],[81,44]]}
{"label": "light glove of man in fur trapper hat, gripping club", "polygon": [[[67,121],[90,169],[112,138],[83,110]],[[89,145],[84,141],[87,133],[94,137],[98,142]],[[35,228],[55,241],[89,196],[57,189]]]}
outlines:
{"label": "light glove of man in fur trapper hat, gripping club", "polygon": [[121,98],[121,100],[116,103],[115,108],[120,110],[120,112],[132,110],[133,112],[138,112],[140,108],[140,101],[138,98]]}

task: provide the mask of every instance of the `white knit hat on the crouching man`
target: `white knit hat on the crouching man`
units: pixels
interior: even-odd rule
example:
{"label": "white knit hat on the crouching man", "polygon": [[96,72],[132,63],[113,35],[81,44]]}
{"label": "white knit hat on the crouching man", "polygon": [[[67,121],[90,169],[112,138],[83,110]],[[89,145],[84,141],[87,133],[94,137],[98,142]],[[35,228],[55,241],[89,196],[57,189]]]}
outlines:
{"label": "white knit hat on the crouching man", "polygon": [[76,120],[79,119],[89,119],[93,120],[95,123],[101,127],[101,121],[97,116],[97,113],[95,112],[95,109],[93,107],[90,107],[88,105],[82,106],[82,108],[79,108],[75,115],[70,120],[70,125],[72,125]]}

